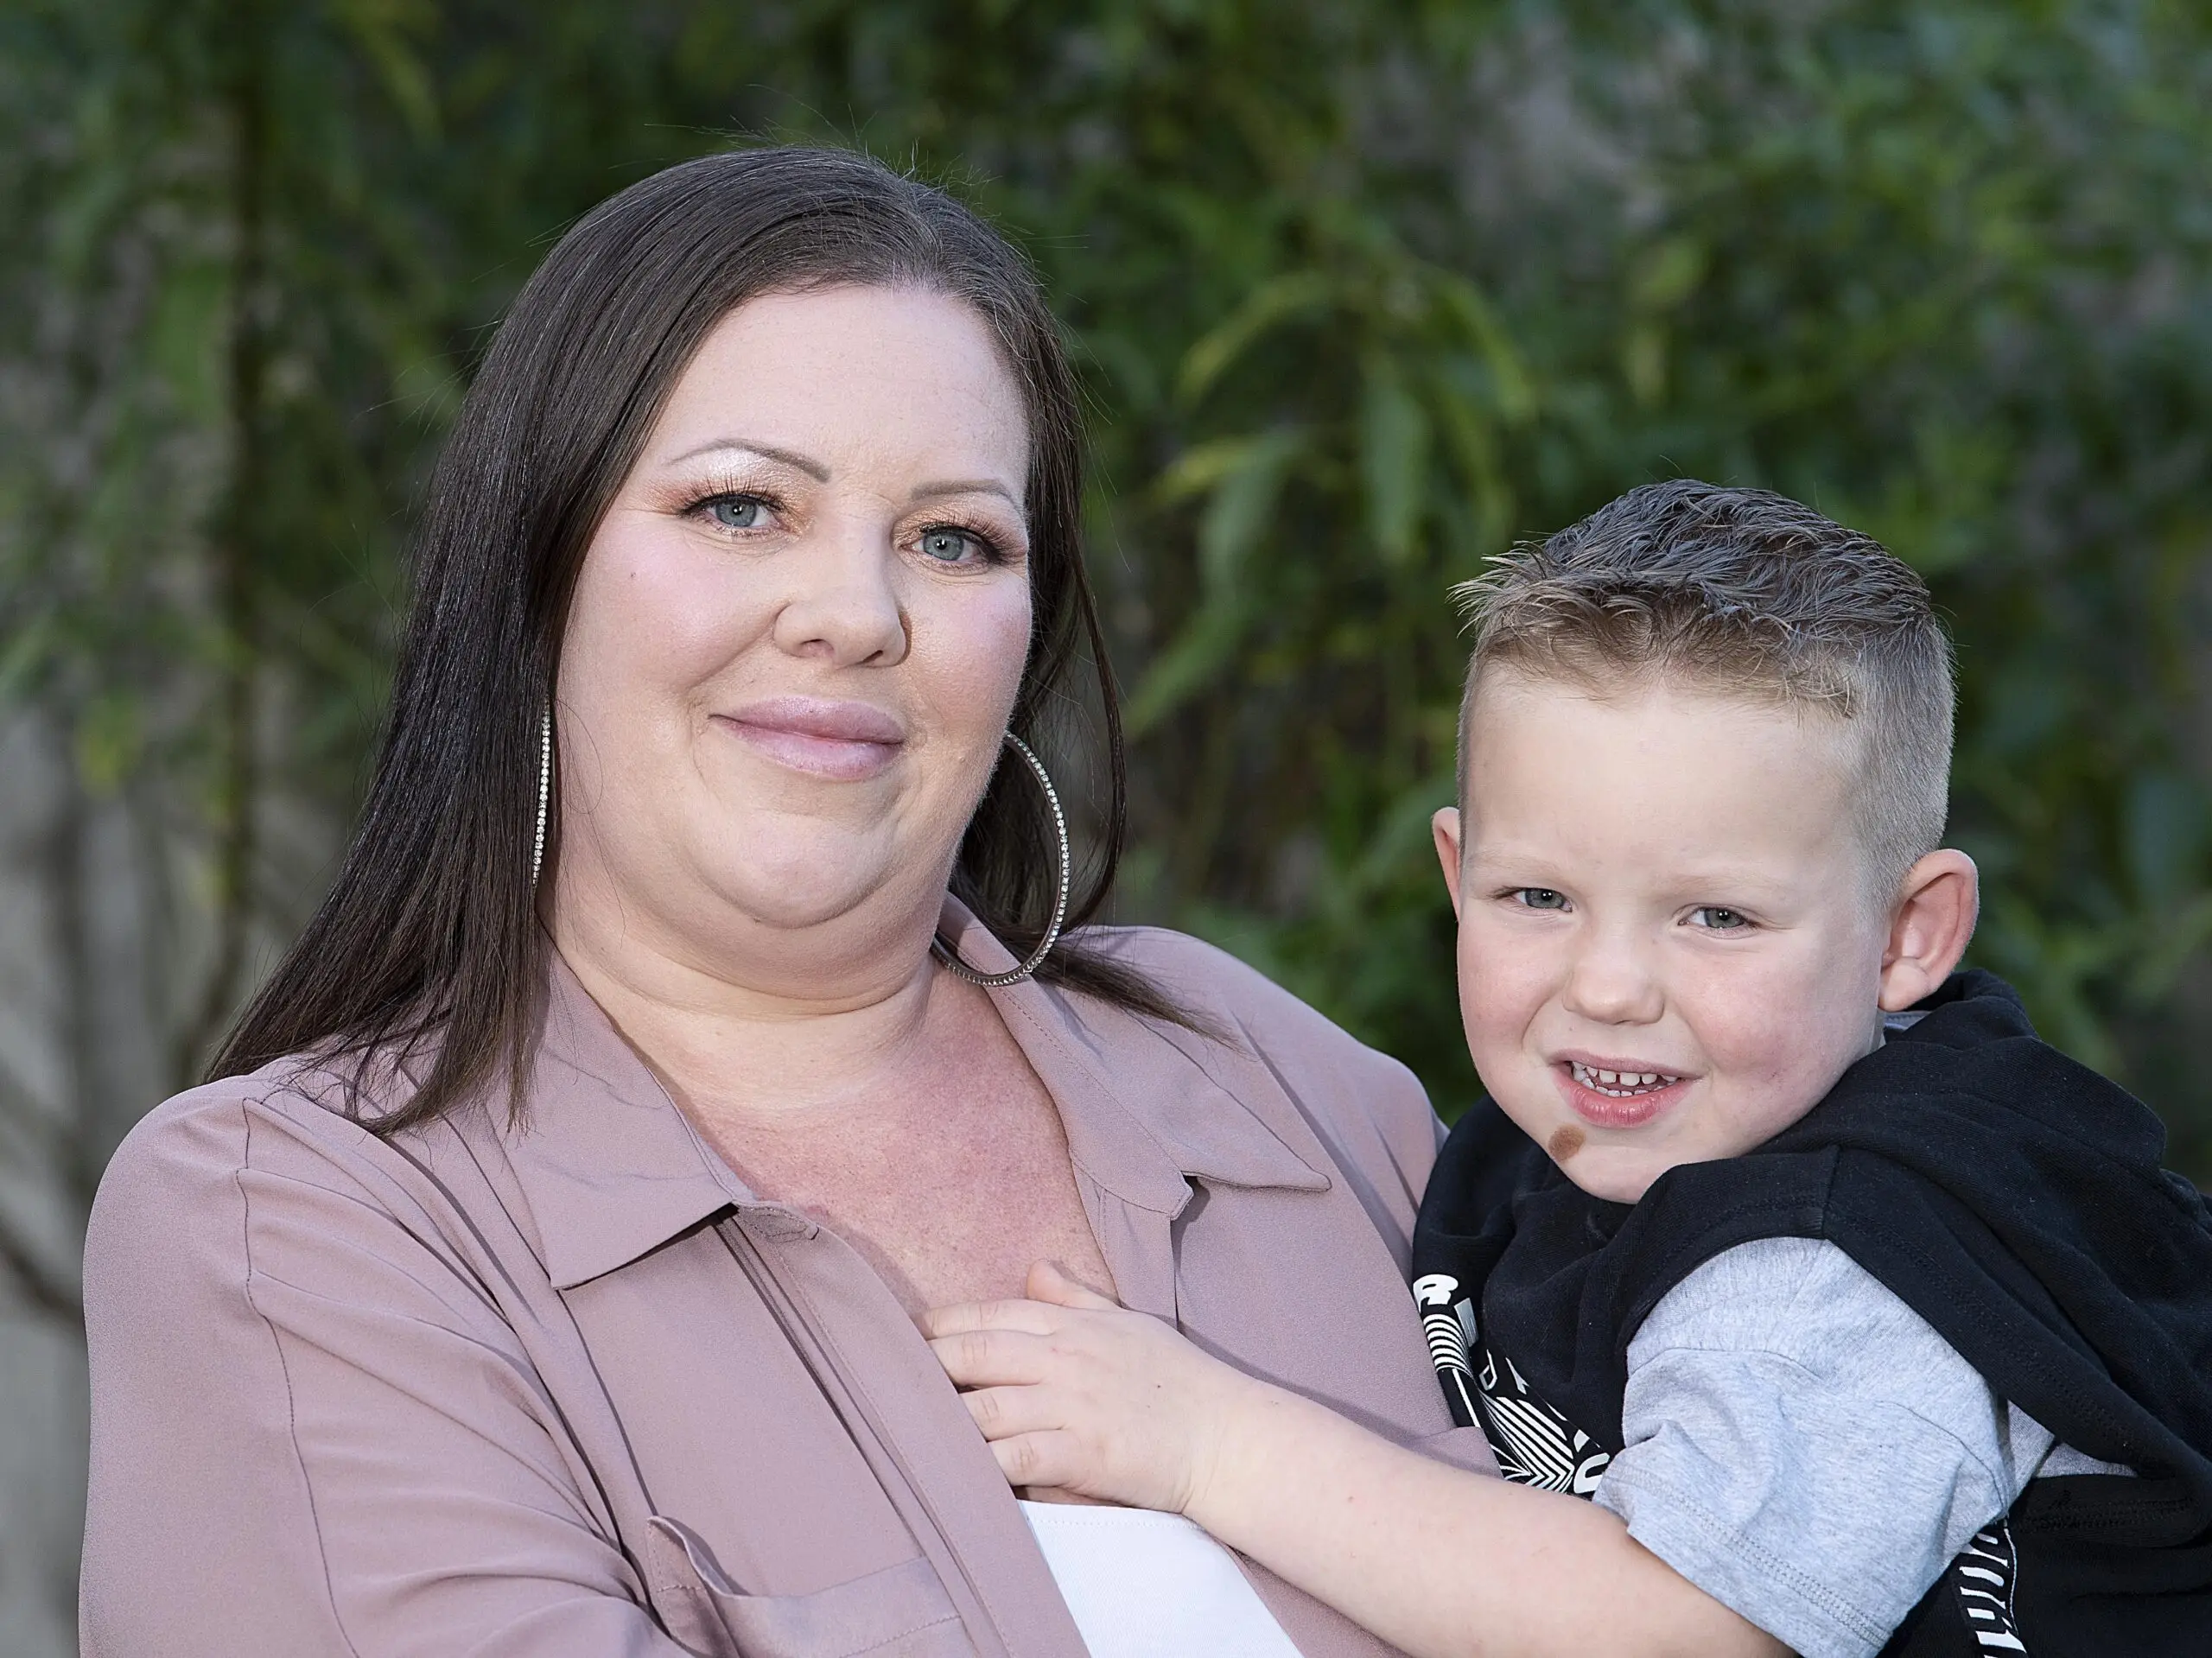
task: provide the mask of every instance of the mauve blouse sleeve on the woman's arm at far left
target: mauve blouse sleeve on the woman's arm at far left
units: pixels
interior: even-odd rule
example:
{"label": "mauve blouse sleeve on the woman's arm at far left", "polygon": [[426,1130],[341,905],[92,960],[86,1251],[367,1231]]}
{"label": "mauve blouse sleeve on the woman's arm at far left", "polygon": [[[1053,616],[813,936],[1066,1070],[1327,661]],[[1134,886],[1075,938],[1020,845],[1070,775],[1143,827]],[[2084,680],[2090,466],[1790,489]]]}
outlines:
{"label": "mauve blouse sleeve on the woman's arm at far left", "polygon": [[296,1110],[179,1096],[102,1180],[86,1658],[677,1658],[513,1329]]}

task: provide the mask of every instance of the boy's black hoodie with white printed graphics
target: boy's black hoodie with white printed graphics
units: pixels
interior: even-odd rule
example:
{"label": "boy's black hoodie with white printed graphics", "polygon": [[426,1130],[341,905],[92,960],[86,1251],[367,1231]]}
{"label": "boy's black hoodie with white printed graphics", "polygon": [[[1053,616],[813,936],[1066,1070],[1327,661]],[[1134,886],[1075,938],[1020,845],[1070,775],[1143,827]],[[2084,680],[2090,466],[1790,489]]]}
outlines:
{"label": "boy's black hoodie with white printed graphics", "polygon": [[2059,1444],[2141,1475],[2031,1481],[1885,1651],[2205,1658],[2212,1211],[2159,1167],[2159,1119],[2037,1041],[2002,979],[1953,975],[1920,1010],[1772,1141],[1635,1205],[1480,1101],[1413,1234],[1444,1393],[1509,1472],[1588,1494],[1659,1298],[1739,1242],[1827,1238]]}

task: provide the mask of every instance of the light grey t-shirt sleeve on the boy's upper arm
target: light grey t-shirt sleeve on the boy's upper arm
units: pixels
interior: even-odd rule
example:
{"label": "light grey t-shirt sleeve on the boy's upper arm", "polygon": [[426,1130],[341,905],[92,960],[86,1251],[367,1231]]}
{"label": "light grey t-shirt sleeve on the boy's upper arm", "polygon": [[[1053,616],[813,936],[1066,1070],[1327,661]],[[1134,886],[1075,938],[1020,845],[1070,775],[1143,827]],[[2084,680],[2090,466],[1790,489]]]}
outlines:
{"label": "light grey t-shirt sleeve on the boy's upper arm", "polygon": [[1628,1346],[1597,1501],[1805,1658],[1867,1658],[2051,1435],[1820,1238],[1714,1256]]}

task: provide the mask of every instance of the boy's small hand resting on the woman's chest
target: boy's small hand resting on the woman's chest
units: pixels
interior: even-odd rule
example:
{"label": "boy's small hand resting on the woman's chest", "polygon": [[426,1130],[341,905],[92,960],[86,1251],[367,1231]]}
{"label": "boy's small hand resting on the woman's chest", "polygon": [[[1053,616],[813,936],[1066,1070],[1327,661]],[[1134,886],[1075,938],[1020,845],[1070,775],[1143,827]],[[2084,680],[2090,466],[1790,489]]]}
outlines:
{"label": "boy's small hand resting on the woman's chest", "polygon": [[1188,1512],[1261,1384],[1048,1262],[1026,1289],[920,1320],[1006,1483]]}

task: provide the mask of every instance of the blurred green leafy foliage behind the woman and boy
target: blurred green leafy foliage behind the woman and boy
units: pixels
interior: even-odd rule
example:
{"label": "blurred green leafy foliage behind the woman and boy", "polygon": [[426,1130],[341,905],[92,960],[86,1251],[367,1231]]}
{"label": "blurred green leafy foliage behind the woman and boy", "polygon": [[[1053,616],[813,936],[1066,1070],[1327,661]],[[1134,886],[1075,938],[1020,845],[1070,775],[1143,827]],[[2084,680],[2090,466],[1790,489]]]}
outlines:
{"label": "blurred green leafy foliage behind the woman and boy", "polygon": [[1772,484],[1929,573],[1978,955],[2212,1172],[2212,18],[2157,0],[4,0],[0,701],[208,917],[179,1079],[314,902],[502,305],[759,139],[949,181],[1066,318],[1121,917],[1464,1101],[1444,588]]}

